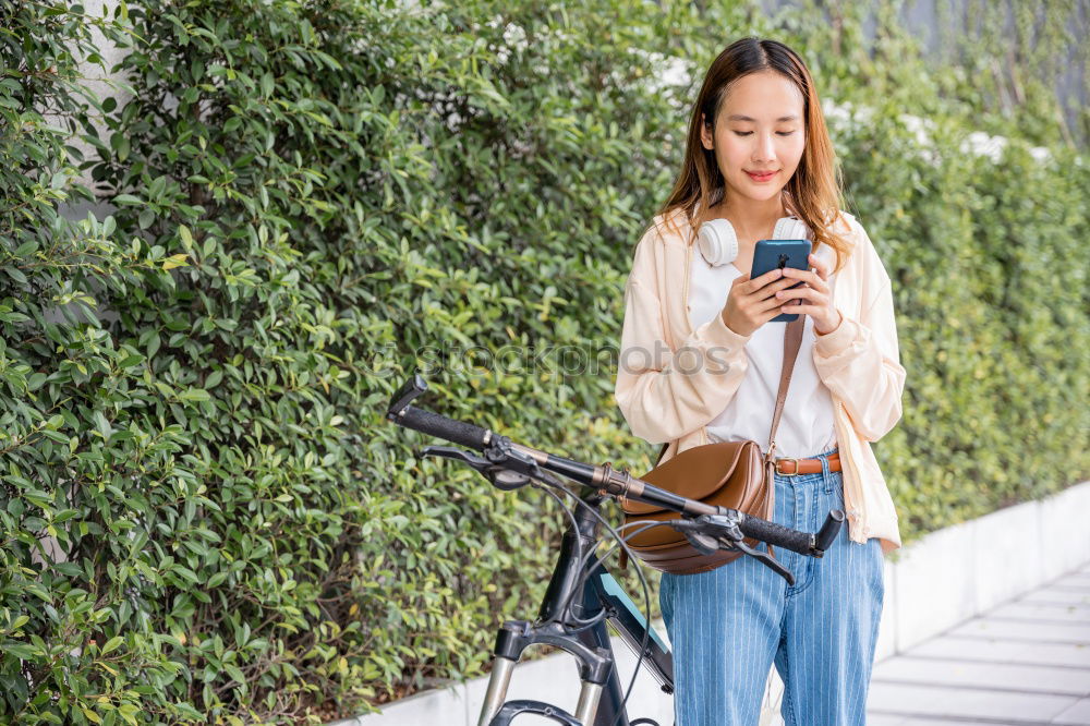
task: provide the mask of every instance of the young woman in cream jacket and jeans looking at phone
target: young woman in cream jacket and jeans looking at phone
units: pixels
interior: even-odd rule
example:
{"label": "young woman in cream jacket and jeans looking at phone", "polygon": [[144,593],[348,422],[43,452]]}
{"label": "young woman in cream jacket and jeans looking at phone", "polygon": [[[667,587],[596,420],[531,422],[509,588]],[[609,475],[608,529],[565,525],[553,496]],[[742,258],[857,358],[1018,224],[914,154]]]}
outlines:
{"label": "young woman in cream jacket and jeans looking at phone", "polygon": [[[844,509],[847,528],[820,560],[777,548],[794,586],[749,557],[663,574],[678,726],[756,724],[773,663],[787,724],[864,723],[883,555],[900,546],[870,443],[900,419],[905,370],[889,276],[839,199],[806,64],[774,40],[729,46],[704,77],[674,191],[637,245],[616,398],[637,436],[668,443],[662,461],[722,440],[768,455],[786,327],[770,320],[803,315],[773,449],[775,521],[815,531]],[[813,242],[812,268],[750,279],[756,241],[791,215]],[[734,227],[734,264],[698,250],[710,219]]]}

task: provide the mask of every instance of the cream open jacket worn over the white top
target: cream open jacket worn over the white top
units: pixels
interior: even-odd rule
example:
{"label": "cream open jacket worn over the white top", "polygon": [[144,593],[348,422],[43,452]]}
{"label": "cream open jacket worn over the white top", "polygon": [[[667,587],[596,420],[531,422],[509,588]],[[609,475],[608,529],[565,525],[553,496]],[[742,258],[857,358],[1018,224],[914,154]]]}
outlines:
{"label": "cream open jacket worn over the white top", "polygon": [[[689,265],[700,252],[689,243],[694,235],[685,215],[673,214],[680,234],[659,215],[637,244],[625,286],[614,389],[633,434],[651,444],[669,443],[664,462],[708,443],[707,424],[746,377],[744,346],[750,338],[728,328],[722,315],[692,328]],[[841,214],[850,230],[841,223],[839,231],[853,243],[833,286],[833,305],[844,317],[835,330],[818,336],[812,355],[833,397],[849,536],[855,542],[881,537],[888,553],[900,546],[897,511],[870,443],[900,419],[905,368],[889,276],[862,226]]]}

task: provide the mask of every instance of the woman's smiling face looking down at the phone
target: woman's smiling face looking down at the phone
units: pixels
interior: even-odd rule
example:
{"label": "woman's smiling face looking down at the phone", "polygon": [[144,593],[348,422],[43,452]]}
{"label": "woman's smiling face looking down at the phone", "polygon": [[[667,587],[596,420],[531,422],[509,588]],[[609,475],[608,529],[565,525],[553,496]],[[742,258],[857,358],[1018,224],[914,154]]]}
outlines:
{"label": "woman's smiling face looking down at the phone", "polygon": [[[704,148],[715,149],[715,161],[726,180],[726,198],[779,198],[806,147],[802,111],[798,86],[775,71],[759,71],[729,87],[714,135],[701,114],[701,142]],[[753,171],[775,173],[754,178],[748,173]]]}

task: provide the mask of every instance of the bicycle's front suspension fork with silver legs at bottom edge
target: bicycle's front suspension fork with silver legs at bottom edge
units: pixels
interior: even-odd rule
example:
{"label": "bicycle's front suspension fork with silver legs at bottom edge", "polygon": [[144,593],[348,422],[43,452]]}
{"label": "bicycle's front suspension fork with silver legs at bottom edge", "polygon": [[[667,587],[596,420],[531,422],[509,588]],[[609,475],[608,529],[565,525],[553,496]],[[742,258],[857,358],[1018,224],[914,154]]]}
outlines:
{"label": "bicycle's front suspension fork with silver legs at bottom edge", "polygon": [[[522,652],[536,643],[559,648],[579,661],[579,679],[582,688],[579,691],[574,716],[562,709],[540,701],[505,703],[514,665],[522,656]],[[586,726],[594,723],[602,699],[602,689],[613,667],[613,658],[607,650],[589,648],[576,641],[565,633],[562,626],[557,622],[534,626],[528,620],[508,620],[496,636],[494,653],[496,657],[477,726],[508,726],[512,718],[523,713],[550,717],[566,726]]]}

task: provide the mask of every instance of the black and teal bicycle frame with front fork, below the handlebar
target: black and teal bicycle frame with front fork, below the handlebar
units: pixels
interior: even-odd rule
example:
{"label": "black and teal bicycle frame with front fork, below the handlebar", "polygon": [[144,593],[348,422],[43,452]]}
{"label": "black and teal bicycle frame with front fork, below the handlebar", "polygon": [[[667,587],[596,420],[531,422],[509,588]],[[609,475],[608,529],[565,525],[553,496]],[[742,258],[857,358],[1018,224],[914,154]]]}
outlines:
{"label": "black and teal bicycle frame with front fork, below the handlebar", "polygon": [[[666,693],[674,692],[674,658],[669,649],[608,570],[601,564],[589,565],[593,573],[586,578],[582,592],[577,591],[585,571],[581,569],[579,555],[590,552],[597,541],[600,522],[594,512],[605,497],[584,487],[580,498],[585,506],[574,508],[576,523],[574,527],[569,524],[564,534],[537,620],[508,620],[499,629],[479,726],[508,726],[512,718],[524,713],[549,717],[566,726],[629,726],[623,707],[625,689],[617,673],[607,619],[637,655],[646,634],[642,665],[662,683]],[[569,598],[573,603],[572,614],[579,619],[591,620],[603,609],[605,618],[579,632],[569,632],[571,628],[562,622],[562,610]],[[525,649],[536,643],[561,649],[579,661],[582,688],[574,715],[538,701],[506,701],[516,664]]]}

